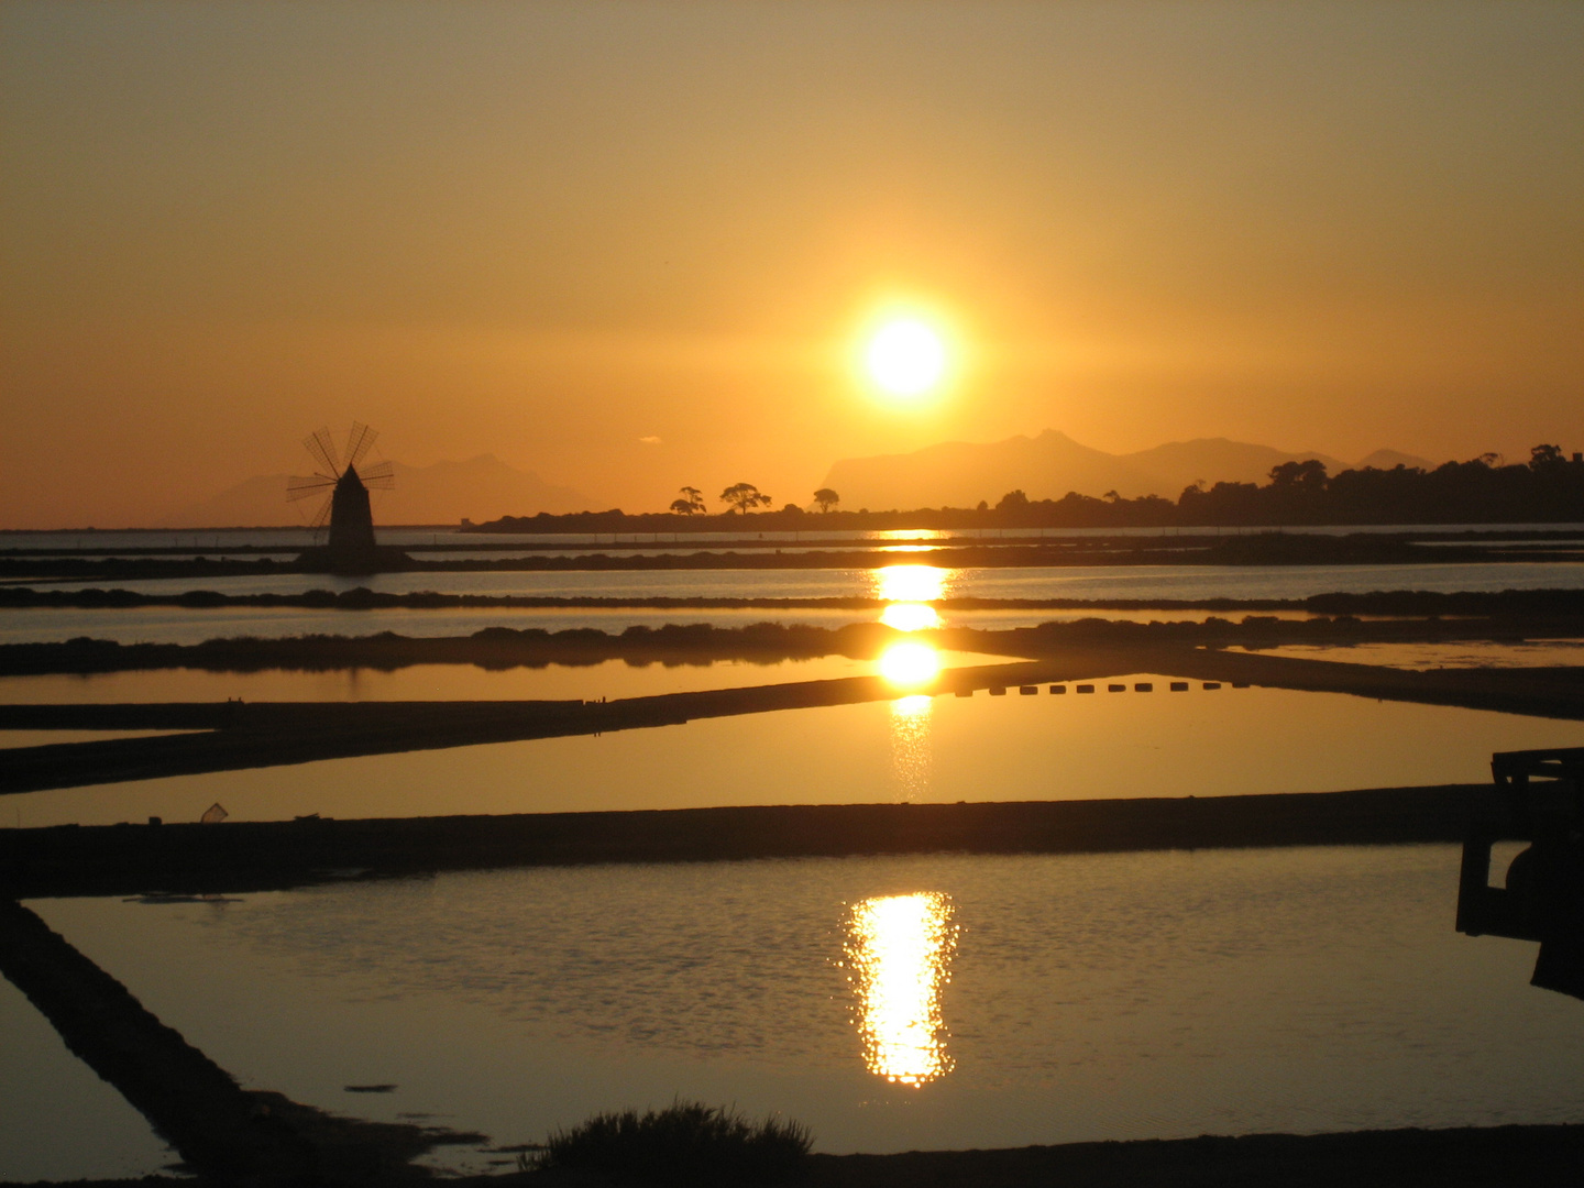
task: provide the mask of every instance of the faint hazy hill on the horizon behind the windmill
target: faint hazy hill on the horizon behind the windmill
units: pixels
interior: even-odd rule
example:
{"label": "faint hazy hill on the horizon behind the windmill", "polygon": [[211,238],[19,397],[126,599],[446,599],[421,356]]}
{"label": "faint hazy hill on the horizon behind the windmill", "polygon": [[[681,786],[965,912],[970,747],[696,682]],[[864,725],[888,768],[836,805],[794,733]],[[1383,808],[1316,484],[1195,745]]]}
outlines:
{"label": "faint hazy hill on the horizon behind the windmill", "polygon": [[[466,463],[406,466],[393,463],[396,489],[374,491],[375,524],[455,524],[469,516],[493,520],[535,512],[581,512],[588,496],[551,486],[531,470],[507,466],[494,455]],[[314,501],[287,502],[287,475],[260,475],[162,516],[157,527],[272,527],[301,524]]]}

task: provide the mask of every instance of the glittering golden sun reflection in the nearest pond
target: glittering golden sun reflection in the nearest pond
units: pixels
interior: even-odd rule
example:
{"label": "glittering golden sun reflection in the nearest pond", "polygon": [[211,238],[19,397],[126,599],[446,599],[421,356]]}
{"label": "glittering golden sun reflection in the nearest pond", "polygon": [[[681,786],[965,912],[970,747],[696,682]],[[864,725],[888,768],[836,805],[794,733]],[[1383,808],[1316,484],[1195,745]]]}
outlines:
{"label": "glittering golden sun reflection in the nearest pond", "polygon": [[897,1085],[952,1071],[941,990],[957,949],[952,901],[941,892],[863,900],[847,920],[847,980],[857,992],[863,1063]]}

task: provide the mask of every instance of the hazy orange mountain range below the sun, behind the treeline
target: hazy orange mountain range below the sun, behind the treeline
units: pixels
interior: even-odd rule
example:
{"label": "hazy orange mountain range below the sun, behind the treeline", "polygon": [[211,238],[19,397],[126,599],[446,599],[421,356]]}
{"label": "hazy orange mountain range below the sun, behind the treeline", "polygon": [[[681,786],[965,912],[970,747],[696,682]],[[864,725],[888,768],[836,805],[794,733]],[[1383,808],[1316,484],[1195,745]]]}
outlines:
{"label": "hazy orange mountain range below the sun, behind the treeline", "polygon": [[[1269,445],[1199,437],[1167,442],[1137,453],[1106,453],[1080,445],[1064,432],[1045,429],[1038,437],[1007,437],[976,445],[942,442],[912,453],[846,458],[830,467],[824,486],[841,496],[841,507],[857,510],[992,505],[1007,491],[1030,499],[1060,499],[1068,491],[1102,496],[1107,491],[1136,499],[1158,494],[1175,499],[1185,486],[1204,480],[1262,483],[1270,467],[1316,458],[1331,474],[1348,463],[1323,453],[1285,453]],[[1391,469],[1397,464],[1434,467],[1434,463],[1396,450],[1376,450],[1351,466]]]}

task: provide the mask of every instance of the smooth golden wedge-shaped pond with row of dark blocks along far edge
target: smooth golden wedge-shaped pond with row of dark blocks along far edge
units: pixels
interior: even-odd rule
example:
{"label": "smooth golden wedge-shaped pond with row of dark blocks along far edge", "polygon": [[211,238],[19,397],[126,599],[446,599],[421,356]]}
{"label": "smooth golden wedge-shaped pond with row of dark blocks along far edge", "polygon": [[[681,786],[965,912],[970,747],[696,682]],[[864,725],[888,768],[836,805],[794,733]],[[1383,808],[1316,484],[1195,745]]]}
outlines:
{"label": "smooth golden wedge-shaped pond with row of dark blocks along far edge", "polygon": [[[1107,692],[1110,684],[1125,692]],[[1139,692],[1137,684],[1152,684]],[[787,710],[10,795],[0,825],[559,813],[713,805],[1088,800],[1486,782],[1492,751],[1584,744],[1584,724],[1285,689],[1095,694]]]}

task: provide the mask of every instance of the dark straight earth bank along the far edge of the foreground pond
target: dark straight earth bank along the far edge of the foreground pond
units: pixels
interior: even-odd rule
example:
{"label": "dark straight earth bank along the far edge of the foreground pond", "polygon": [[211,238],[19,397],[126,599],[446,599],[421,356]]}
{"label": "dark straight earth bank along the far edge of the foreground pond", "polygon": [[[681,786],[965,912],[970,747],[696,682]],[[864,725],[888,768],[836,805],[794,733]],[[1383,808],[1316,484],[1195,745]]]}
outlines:
{"label": "dark straight earth bank along the far edge of the foreground pond", "polygon": [[604,862],[1462,841],[1487,784],[1256,797],[770,805],[0,830],[0,895],[198,895]]}

